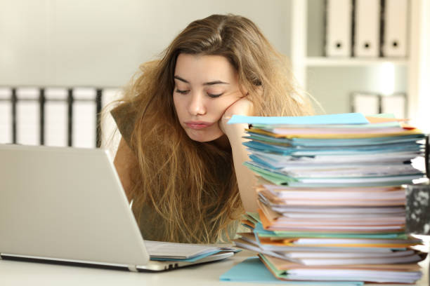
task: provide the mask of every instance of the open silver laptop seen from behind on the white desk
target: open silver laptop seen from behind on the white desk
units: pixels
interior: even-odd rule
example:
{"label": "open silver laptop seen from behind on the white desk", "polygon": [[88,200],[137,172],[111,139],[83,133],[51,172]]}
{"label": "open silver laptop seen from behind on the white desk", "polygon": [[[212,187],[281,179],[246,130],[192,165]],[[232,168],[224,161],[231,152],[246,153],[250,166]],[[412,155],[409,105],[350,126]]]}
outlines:
{"label": "open silver laptop seen from behind on the white desk", "polygon": [[0,144],[1,259],[163,271],[233,255],[152,261],[150,252],[107,151]]}

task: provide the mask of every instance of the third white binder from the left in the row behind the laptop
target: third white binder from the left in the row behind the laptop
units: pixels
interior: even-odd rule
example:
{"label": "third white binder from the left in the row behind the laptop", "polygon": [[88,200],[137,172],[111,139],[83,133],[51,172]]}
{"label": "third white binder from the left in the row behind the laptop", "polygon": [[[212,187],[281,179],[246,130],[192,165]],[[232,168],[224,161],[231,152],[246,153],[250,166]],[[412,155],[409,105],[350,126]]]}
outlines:
{"label": "third white binder from the left in the row behind the laptop", "polygon": [[67,89],[46,88],[44,109],[44,144],[46,146],[67,146]]}

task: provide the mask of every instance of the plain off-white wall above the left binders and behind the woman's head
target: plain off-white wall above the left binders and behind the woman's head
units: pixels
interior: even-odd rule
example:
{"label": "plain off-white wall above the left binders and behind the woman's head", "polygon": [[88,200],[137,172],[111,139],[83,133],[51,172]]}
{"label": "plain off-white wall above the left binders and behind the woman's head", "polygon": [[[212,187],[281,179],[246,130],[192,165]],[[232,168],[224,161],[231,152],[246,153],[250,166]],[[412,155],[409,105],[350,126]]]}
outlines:
{"label": "plain off-white wall above the left binders and behind the woman's head", "polygon": [[0,0],[0,86],[123,86],[189,22],[253,20],[289,54],[285,0]]}

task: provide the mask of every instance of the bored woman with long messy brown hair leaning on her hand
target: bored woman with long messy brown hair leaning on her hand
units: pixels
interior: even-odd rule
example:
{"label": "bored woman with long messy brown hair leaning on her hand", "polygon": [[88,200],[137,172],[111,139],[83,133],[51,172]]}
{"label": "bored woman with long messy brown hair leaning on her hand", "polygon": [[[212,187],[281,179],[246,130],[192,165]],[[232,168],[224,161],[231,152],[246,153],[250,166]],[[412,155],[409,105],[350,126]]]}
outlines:
{"label": "bored woman with long messy brown hair leaning on her hand", "polygon": [[162,58],[141,66],[112,111],[122,139],[115,167],[143,238],[230,240],[256,209],[254,175],[233,114],[298,116],[311,104],[254,23],[211,15],[190,23]]}

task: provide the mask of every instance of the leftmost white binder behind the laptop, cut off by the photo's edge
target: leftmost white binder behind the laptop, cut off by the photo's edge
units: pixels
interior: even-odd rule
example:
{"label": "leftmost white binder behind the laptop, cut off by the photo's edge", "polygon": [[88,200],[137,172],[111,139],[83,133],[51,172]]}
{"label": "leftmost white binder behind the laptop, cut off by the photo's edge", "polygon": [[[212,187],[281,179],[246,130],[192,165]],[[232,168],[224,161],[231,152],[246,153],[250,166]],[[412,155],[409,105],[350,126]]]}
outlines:
{"label": "leftmost white binder behind the laptop, cut off by the photo's edge", "polygon": [[0,88],[0,143],[13,142],[12,90]]}

